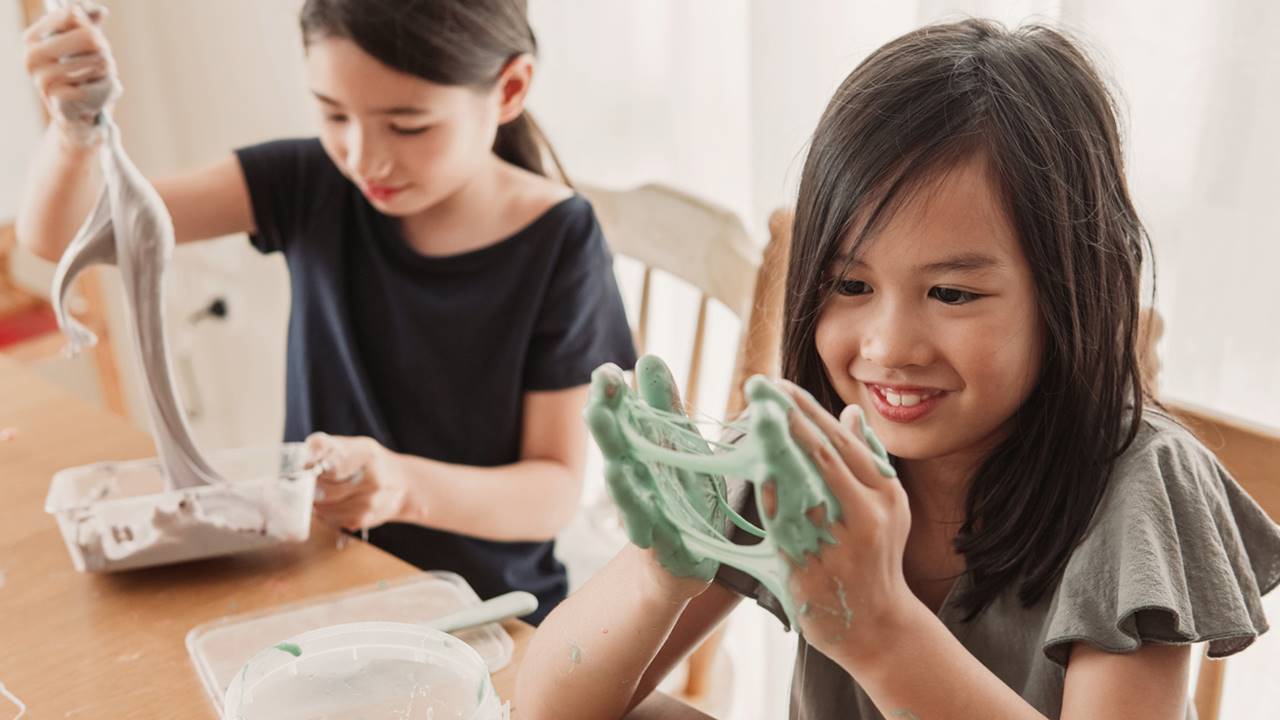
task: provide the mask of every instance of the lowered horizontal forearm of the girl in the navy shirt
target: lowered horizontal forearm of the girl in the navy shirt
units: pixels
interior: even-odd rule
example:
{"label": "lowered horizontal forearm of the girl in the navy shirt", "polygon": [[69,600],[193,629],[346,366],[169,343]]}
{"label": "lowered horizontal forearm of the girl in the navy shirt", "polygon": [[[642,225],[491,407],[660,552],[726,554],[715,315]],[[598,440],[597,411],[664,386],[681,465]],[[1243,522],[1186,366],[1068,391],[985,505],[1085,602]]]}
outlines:
{"label": "lowered horizontal forearm of the girl in the navy shirt", "polygon": [[406,478],[401,521],[493,541],[547,541],[577,511],[581,473],[553,460],[477,468],[394,455]]}

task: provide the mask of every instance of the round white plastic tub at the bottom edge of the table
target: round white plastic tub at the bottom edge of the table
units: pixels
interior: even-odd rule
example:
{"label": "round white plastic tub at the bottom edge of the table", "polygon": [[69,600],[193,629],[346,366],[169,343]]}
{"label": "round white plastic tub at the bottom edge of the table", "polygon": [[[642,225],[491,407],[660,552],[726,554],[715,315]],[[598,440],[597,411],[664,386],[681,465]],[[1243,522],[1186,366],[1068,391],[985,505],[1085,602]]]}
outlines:
{"label": "round white plastic tub at the bottom edge of the table", "polygon": [[349,623],[255,655],[232,680],[224,720],[507,720],[480,653],[408,623]]}

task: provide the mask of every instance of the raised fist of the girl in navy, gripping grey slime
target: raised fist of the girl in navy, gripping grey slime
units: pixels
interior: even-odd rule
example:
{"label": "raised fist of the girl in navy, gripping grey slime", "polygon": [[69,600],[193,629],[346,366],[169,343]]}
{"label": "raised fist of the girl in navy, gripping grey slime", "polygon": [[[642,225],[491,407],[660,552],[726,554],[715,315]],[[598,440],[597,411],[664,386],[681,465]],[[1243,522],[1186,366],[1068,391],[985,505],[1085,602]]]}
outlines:
{"label": "raised fist of the girl in navy, gripping grey slime", "polygon": [[74,146],[95,145],[97,118],[120,96],[115,59],[99,27],[106,8],[76,0],[23,35],[27,73],[51,123]]}

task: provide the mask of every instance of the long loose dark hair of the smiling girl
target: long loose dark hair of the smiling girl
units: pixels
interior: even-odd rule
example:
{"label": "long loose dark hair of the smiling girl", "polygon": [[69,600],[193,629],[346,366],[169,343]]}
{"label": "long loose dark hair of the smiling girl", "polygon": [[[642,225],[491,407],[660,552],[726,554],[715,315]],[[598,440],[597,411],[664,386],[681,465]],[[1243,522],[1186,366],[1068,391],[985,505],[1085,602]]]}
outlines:
{"label": "long loose dark hair of the smiling girl", "polygon": [[800,181],[782,361],[840,410],[814,346],[831,263],[851,232],[856,247],[910,192],[977,152],[1030,263],[1044,351],[1018,430],[966,498],[955,544],[969,619],[1015,583],[1027,606],[1057,584],[1143,413],[1135,333],[1149,240],[1129,199],[1115,102],[1084,53],[1048,27],[968,19],[908,33],[854,69]]}

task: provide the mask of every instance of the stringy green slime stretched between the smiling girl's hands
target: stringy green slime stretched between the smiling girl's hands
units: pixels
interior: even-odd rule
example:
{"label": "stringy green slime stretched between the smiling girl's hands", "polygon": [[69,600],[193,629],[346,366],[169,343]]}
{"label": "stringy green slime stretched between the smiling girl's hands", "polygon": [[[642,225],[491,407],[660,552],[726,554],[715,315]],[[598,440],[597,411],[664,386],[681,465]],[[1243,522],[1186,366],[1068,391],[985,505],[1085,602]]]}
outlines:
{"label": "stringy green slime stretched between the smiling girl's hands", "polygon": [[[692,424],[675,413],[676,389],[660,360],[636,364],[639,397],[614,365],[591,375],[586,420],[605,460],[609,493],[622,512],[631,542],[653,547],[663,566],[677,577],[710,579],[721,562],[759,580],[778,601],[792,628],[797,607],[788,589],[791,561],[805,562],[822,543],[835,544],[827,527],[806,515],[826,507],[827,521],[840,519],[841,507],[808,454],[796,445],[787,414],[795,404],[767,378],[746,382],[746,434],[712,454]],[[641,398],[644,402],[641,402]],[[863,425],[868,446],[884,461],[888,456]],[[718,443],[717,443],[718,445]],[[724,477],[742,478],[753,495],[764,528],[756,528],[728,506]],[[773,480],[776,511],[765,514],[760,487]],[[760,539],[737,544],[726,537],[728,518]]]}

